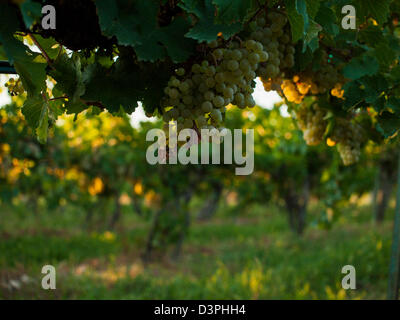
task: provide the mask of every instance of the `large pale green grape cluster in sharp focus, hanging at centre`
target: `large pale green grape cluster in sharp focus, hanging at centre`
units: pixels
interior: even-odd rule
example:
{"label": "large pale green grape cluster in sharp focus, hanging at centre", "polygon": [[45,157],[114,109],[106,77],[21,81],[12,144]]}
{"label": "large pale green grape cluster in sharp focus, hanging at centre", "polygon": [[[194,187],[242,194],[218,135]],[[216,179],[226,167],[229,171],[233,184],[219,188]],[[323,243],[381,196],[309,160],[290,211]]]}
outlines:
{"label": "large pale green grape cluster in sharp focus, hanging at centre", "polygon": [[[254,107],[254,79],[260,62],[269,54],[253,39],[231,41],[227,48],[221,40],[211,42],[209,59],[193,64],[191,70],[179,68],[164,89],[163,119],[175,120],[183,128],[214,128],[222,123],[226,106]],[[211,62],[210,62],[211,61]]]}

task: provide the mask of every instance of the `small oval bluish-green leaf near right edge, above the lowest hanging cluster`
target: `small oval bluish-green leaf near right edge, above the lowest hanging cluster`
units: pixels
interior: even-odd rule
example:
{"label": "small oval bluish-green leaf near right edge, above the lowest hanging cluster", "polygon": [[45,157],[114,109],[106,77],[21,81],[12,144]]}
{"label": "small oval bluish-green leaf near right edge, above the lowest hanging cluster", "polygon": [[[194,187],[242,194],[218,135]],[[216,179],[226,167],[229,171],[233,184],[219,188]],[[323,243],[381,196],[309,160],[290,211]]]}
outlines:
{"label": "small oval bluish-green leaf near right edge, above the lowest hanging cluster", "polygon": [[353,58],[343,69],[343,75],[352,80],[359,79],[365,75],[374,75],[379,71],[378,61],[374,56],[363,54]]}

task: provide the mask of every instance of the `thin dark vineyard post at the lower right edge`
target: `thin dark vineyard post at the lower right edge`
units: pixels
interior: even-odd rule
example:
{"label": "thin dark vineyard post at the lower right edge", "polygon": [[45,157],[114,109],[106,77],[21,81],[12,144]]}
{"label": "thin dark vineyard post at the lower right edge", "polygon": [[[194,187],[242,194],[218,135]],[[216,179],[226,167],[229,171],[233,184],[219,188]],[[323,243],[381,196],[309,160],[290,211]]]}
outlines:
{"label": "thin dark vineyard post at the lower right edge", "polygon": [[387,298],[397,300],[399,298],[400,282],[400,156],[398,158],[397,171],[397,193],[396,193],[396,211],[393,227],[392,256],[389,267],[389,284]]}

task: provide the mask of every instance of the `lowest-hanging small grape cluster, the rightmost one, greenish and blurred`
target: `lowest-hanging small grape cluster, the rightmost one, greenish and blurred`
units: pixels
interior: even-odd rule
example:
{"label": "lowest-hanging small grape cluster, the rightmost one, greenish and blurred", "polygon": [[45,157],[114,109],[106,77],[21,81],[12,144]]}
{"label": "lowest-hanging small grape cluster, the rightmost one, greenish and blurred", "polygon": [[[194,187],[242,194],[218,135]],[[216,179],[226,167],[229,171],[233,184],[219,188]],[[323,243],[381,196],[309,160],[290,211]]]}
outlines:
{"label": "lowest-hanging small grape cluster, the rightmost one, greenish and blurred", "polygon": [[330,138],[337,143],[337,150],[345,166],[352,165],[360,159],[364,136],[359,124],[349,119],[337,119]]}

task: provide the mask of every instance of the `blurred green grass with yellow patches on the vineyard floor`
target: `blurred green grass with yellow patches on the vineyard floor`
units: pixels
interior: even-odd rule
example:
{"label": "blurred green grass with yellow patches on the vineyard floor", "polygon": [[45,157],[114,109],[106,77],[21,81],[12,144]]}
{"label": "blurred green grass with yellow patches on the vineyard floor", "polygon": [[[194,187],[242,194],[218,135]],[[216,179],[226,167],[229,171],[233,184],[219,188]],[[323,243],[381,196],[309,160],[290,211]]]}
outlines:
{"label": "blurred green grass with yellow patches on the vineyard floor", "polygon": [[[303,237],[276,208],[221,212],[192,226],[180,260],[160,255],[146,266],[140,254],[149,226],[128,212],[116,231],[93,232],[74,208],[36,217],[0,210],[2,299],[385,298],[392,213],[377,227],[369,207],[346,209],[329,231],[312,223],[315,207]],[[45,264],[56,267],[56,290],[41,288]],[[341,269],[349,264],[357,289],[346,291]]]}

